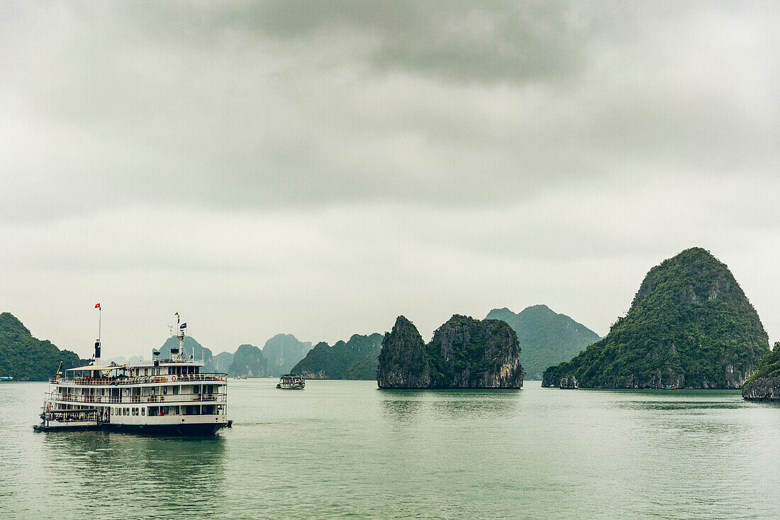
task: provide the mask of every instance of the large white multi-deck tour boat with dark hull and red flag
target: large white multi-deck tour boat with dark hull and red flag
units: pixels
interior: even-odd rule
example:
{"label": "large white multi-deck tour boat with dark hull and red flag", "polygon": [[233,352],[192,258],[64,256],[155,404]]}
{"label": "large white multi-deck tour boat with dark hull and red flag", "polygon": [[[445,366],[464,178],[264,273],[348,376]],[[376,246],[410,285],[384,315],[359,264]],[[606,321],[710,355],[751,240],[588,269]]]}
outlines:
{"label": "large white multi-deck tour boat with dark hull and red flag", "polygon": [[[204,373],[204,362],[184,356],[186,323],[176,314],[179,346],[170,358],[152,351],[152,361],[101,365],[98,327],[89,365],[57,369],[49,379],[36,431],[107,429],[162,435],[213,435],[232,426],[228,413],[228,377]],[[62,363],[60,363],[62,367]]]}

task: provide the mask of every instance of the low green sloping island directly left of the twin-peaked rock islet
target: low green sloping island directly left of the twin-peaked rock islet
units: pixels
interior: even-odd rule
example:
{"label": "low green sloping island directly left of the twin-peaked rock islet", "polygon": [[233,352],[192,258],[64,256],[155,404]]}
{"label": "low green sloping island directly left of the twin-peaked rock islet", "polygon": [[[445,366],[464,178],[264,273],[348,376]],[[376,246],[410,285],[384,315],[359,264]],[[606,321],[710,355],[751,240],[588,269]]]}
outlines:
{"label": "low green sloping island directly left of the twin-peaked rock islet", "polygon": [[354,334],[332,347],[324,341],[311,349],[291,373],[307,379],[376,379],[382,335]]}

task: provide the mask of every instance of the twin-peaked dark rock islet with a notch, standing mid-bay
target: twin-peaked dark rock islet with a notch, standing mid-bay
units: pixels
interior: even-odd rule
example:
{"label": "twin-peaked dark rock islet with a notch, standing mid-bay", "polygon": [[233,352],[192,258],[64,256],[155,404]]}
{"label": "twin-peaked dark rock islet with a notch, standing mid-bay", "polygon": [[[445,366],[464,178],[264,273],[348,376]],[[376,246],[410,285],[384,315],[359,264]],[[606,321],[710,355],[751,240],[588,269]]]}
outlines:
{"label": "twin-peaked dark rock islet with a notch, standing mid-bay", "polygon": [[379,354],[380,388],[520,388],[523,367],[517,335],[496,319],[453,315],[425,345],[399,316]]}

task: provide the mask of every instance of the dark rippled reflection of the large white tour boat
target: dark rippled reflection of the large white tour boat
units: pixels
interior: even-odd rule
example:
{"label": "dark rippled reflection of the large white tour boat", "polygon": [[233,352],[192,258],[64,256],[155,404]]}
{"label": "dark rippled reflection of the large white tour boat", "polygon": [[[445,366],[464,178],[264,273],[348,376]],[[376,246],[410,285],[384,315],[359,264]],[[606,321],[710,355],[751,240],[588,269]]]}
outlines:
{"label": "dark rippled reflection of the large white tour boat", "polygon": [[[225,439],[220,436],[67,432],[44,434],[42,446],[44,479],[84,500],[99,497],[90,512],[132,511],[137,518],[197,510],[208,516],[207,506],[224,497]],[[63,508],[68,511],[69,504]]]}

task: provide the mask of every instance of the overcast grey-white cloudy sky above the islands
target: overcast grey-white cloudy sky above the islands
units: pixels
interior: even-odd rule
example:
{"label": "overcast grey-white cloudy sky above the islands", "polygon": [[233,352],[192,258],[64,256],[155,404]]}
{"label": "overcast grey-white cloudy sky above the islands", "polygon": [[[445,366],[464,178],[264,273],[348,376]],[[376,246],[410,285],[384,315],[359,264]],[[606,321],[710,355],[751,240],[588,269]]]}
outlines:
{"label": "overcast grey-white cloudy sky above the islands", "polygon": [[600,335],[700,246],[780,340],[777,2],[2,2],[0,312],[144,354]]}

